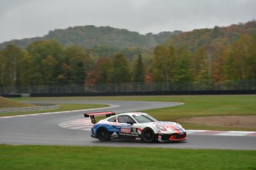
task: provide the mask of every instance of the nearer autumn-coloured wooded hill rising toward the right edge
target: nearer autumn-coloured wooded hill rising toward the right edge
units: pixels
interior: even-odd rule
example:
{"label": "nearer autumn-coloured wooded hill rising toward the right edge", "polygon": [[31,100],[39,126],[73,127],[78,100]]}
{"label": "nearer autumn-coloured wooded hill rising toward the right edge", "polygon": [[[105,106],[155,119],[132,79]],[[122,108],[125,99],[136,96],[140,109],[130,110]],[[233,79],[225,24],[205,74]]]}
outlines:
{"label": "nearer autumn-coloured wooded hill rising toward the right edge", "polygon": [[217,27],[212,29],[198,29],[183,32],[178,36],[168,38],[167,44],[174,44],[177,47],[186,47],[194,52],[201,47],[214,46],[229,47],[241,35],[256,35],[256,21],[248,21],[244,24],[232,24],[228,27]]}

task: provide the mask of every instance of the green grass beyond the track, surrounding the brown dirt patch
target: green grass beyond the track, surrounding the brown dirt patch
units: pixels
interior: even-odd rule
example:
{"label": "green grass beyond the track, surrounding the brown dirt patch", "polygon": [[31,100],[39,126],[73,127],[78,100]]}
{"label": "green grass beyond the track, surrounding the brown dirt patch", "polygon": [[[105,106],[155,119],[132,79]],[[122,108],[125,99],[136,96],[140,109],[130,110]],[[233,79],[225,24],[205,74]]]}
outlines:
{"label": "green grass beyond the track, surrounding the brown dirt patch", "polygon": [[[256,95],[165,95],[65,98],[15,98],[15,100],[114,100],[181,102],[180,106],[143,110],[158,120],[178,121],[197,116],[256,115]],[[256,131],[255,128],[206,126],[182,123],[185,129]]]}

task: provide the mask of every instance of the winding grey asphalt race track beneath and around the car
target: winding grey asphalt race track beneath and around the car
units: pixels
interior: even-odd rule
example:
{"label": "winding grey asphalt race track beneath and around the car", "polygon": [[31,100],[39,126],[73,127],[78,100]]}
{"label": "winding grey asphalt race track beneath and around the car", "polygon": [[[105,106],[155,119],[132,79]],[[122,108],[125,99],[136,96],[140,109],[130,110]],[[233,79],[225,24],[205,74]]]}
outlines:
{"label": "winding grey asphalt race track beneath and around the car", "polygon": [[118,146],[118,147],[154,147],[179,149],[239,149],[256,150],[255,136],[217,136],[189,135],[188,140],[180,143],[142,143],[140,141],[113,140],[99,142],[91,137],[90,131],[67,129],[59,123],[82,119],[85,112],[116,113],[136,112],[145,109],[177,106],[183,103],[151,101],[27,101],[29,103],[100,103],[110,108],[89,109],[62,113],[25,115],[21,117],[0,117],[0,144],[14,145],[62,145],[62,146]]}

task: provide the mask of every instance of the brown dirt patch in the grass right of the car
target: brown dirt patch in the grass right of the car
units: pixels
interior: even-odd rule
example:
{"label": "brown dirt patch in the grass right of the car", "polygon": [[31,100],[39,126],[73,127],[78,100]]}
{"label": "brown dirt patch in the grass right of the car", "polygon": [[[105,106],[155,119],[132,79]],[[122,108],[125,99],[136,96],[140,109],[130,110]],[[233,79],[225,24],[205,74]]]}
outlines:
{"label": "brown dirt patch in the grass right of the car", "polygon": [[226,126],[226,127],[243,127],[256,129],[256,115],[249,116],[208,116],[183,118],[180,123],[193,123],[205,126]]}

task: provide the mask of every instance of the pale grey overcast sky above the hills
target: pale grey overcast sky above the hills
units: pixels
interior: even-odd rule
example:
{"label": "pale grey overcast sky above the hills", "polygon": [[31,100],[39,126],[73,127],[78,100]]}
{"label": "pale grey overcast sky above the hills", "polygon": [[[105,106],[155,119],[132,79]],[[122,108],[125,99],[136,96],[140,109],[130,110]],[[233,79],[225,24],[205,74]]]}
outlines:
{"label": "pale grey overcast sky above the hills", "polygon": [[256,19],[256,0],[0,0],[0,43],[95,25],[138,33],[190,31]]}

